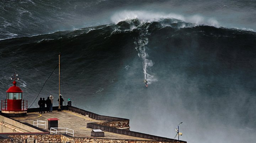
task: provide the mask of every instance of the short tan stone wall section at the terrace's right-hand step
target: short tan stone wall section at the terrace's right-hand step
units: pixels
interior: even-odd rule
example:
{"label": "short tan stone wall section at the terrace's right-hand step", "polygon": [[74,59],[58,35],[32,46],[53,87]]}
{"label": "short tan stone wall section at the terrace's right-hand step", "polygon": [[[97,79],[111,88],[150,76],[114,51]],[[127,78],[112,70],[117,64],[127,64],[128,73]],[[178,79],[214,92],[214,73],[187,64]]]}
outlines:
{"label": "short tan stone wall section at the terrace's right-hand step", "polygon": [[96,124],[100,124],[103,126],[108,127],[115,127],[119,129],[129,129],[129,120],[122,120],[122,121],[109,121],[109,122],[96,122]]}

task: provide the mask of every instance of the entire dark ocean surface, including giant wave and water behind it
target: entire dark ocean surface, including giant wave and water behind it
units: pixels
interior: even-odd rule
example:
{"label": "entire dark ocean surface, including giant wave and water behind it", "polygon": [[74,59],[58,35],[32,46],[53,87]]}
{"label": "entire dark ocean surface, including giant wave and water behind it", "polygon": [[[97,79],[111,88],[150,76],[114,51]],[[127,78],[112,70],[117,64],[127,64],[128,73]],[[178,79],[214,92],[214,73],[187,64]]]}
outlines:
{"label": "entire dark ocean surface, including giant wave and water behind it", "polygon": [[[17,72],[17,86],[37,107],[60,51],[65,103],[128,118],[132,131],[174,138],[183,122],[180,139],[190,143],[253,143],[255,2],[236,2],[1,1],[1,12],[11,12],[1,15],[9,24],[0,25],[0,97]],[[232,12],[233,22],[221,20]],[[57,98],[58,69],[38,97],[49,95]]]}

